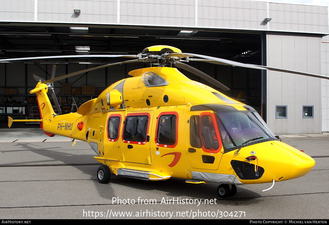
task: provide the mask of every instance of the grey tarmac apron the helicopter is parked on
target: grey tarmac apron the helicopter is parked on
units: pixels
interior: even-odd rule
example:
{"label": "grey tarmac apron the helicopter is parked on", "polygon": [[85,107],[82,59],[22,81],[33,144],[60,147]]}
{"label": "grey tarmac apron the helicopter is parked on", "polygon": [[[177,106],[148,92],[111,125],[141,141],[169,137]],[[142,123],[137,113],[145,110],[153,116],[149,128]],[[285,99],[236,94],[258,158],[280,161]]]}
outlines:
{"label": "grey tarmac apron the helicopter is parked on", "polygon": [[[151,182],[114,176],[109,184],[100,184],[96,178],[98,163],[93,160],[95,153],[90,146],[82,141],[72,146],[70,138],[55,137],[43,136],[34,128],[0,129],[3,219],[193,218],[194,215],[194,218],[328,218],[327,135],[282,138],[315,158],[315,167],[304,177],[275,183],[265,192],[262,190],[270,184],[238,186],[237,194],[227,199],[218,198],[216,184],[192,185],[181,179]],[[114,198],[135,199],[136,203],[116,204]],[[162,202],[173,198],[194,203]],[[137,204],[138,199],[156,199],[156,204],[145,204],[146,201]],[[212,199],[213,204],[204,204],[205,199]]]}

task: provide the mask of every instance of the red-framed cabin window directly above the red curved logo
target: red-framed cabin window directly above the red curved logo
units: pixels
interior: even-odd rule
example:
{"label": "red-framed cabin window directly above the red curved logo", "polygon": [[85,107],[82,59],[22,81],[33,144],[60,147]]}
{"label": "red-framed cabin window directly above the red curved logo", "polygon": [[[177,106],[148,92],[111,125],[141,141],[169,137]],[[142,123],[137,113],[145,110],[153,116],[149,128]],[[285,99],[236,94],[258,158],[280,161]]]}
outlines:
{"label": "red-framed cabin window directly above the red curved logo", "polygon": [[157,141],[160,144],[176,143],[176,116],[162,115],[159,118]]}

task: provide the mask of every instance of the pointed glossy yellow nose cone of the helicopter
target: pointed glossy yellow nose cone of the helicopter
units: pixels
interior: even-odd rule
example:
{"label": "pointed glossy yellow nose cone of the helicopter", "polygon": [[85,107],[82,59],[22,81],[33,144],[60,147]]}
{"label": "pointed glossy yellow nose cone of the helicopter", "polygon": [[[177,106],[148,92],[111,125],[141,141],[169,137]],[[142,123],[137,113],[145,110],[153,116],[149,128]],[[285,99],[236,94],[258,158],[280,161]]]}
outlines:
{"label": "pointed glossy yellow nose cone of the helicopter", "polygon": [[272,145],[274,148],[264,151],[263,162],[280,181],[304,176],[315,165],[313,158],[290,145],[279,141],[272,142]]}

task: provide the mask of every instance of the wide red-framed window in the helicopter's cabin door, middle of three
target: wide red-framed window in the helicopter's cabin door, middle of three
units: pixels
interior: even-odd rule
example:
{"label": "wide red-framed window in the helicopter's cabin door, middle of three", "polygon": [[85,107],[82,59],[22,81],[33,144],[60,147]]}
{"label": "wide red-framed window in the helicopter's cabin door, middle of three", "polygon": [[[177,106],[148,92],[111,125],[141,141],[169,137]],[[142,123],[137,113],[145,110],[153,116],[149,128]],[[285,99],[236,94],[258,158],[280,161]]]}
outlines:
{"label": "wide red-framed window in the helicopter's cabin door, middle of three", "polygon": [[123,139],[145,141],[147,125],[147,116],[127,116],[125,120]]}

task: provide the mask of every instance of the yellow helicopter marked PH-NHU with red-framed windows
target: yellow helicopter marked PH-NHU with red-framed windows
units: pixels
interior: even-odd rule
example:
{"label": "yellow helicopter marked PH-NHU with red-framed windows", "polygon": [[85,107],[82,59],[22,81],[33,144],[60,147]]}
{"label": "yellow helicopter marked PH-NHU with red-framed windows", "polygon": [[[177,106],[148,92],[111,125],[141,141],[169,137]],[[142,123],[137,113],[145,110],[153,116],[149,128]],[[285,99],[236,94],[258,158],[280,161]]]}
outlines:
{"label": "yellow helicopter marked PH-NHU with red-framed windows", "polygon": [[[217,193],[226,198],[236,194],[236,185],[272,183],[273,187],[274,182],[305,175],[315,165],[310,156],[281,142],[252,107],[192,81],[176,68],[165,65],[190,71],[224,90],[229,88],[185,63],[202,61],[327,77],[182,53],[178,48],[166,45],[145,48],[138,55],[30,57],[0,61],[74,57],[135,58],[57,78],[54,78],[54,66],[52,77],[47,81],[34,75],[38,84],[30,93],[37,95],[41,130],[50,137],[61,135],[88,142],[98,155],[94,159],[103,164],[97,171],[100,183],[108,183],[112,175],[150,181],[175,177],[191,184],[219,183]],[[132,77],[117,81],[97,98],[80,106],[77,112],[61,114],[53,91],[54,81],[132,62],[151,62],[158,67],[130,71],[128,74]],[[59,115],[48,98],[49,89]],[[16,121],[27,120],[9,117],[9,127]]]}

